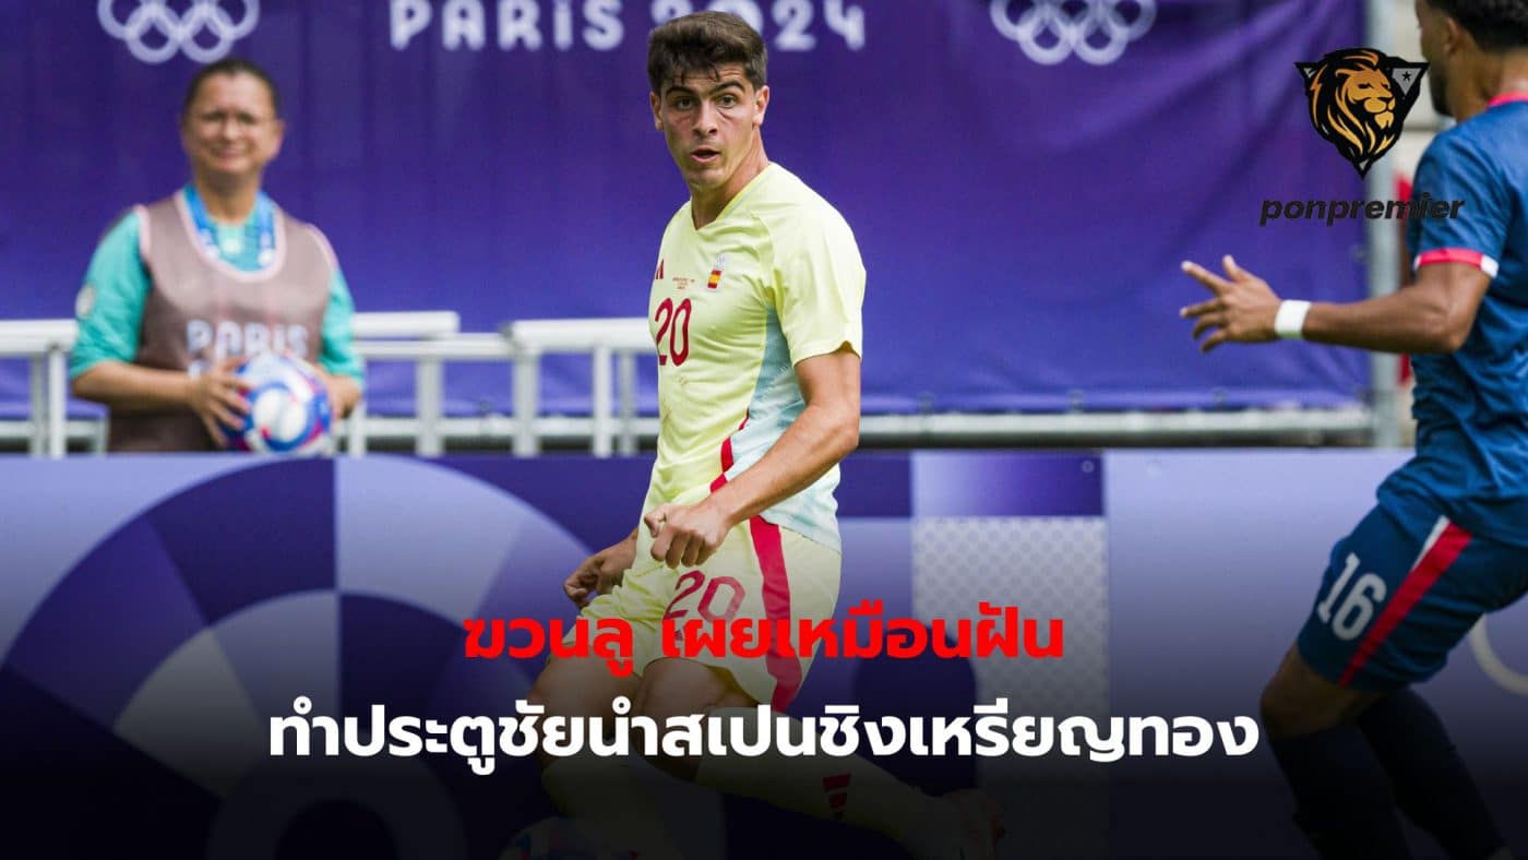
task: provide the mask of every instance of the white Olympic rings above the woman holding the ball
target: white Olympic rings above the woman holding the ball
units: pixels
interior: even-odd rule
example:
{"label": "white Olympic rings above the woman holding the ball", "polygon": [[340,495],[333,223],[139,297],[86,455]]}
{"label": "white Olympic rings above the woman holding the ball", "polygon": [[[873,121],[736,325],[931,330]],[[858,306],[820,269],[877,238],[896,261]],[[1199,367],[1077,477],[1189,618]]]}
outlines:
{"label": "white Olympic rings above the woman holding the ball", "polygon": [[[212,63],[260,23],[260,0],[238,3],[243,9],[237,23],[219,0],[191,0],[191,8],[183,14],[171,9],[168,0],[138,0],[125,21],[116,20],[116,0],[99,0],[96,17],[107,35],[125,41],[133,57],[144,63],[163,63],[177,50],[197,63]],[[203,32],[211,34],[217,43],[208,46],[199,41]],[[157,34],[157,38],[145,40],[148,34]]]}

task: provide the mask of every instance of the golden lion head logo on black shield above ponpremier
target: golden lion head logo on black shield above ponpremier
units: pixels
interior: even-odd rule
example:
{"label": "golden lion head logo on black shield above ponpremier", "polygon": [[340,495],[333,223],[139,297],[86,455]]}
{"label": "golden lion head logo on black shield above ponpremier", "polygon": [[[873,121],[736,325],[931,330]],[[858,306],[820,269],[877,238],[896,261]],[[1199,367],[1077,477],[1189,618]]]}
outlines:
{"label": "golden lion head logo on black shield above ponpremier", "polygon": [[1401,124],[1421,95],[1426,63],[1407,63],[1368,47],[1334,50],[1316,63],[1296,63],[1305,78],[1316,133],[1342,157],[1369,173],[1401,137]]}

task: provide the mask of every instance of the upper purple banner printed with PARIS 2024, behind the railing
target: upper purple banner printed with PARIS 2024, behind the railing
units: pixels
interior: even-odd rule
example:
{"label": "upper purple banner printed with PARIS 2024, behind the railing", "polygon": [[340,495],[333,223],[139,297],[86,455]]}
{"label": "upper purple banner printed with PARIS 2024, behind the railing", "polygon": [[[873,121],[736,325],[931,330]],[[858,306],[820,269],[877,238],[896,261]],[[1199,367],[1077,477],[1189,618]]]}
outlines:
{"label": "upper purple banner printed with PARIS 2024, behind the railing", "polygon": [[[468,330],[639,315],[686,197],[648,115],[645,37],[698,5],[8,3],[6,316],[70,315],[105,225],[186,180],[182,89],[193,58],[225,49],[283,89],[267,188],[329,234],[359,310],[452,309]],[[1365,388],[1357,353],[1204,360],[1177,318],[1199,295],[1178,261],[1224,252],[1293,295],[1363,295],[1361,221],[1259,226],[1265,199],[1363,196],[1293,66],[1360,44],[1361,5],[709,5],[762,27],[767,151],[859,238],[868,409],[1329,405]],[[547,403],[585,409],[587,374],[549,362]],[[509,406],[503,368],[454,367],[448,385],[455,412]],[[0,364],[0,400],[24,386]],[[408,367],[373,368],[374,409],[411,388]]]}

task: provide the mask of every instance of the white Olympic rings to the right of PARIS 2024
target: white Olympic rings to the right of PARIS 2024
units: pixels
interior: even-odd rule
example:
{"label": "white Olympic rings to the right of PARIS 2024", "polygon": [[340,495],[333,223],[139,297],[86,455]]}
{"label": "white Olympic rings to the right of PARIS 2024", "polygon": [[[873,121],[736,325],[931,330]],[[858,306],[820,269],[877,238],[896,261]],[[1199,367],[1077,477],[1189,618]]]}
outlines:
{"label": "white Olympic rings to the right of PARIS 2024", "polygon": [[[1073,53],[1083,63],[1108,66],[1157,20],[1157,0],[1024,0],[1027,8],[1018,18],[1010,14],[1013,3],[992,0],[992,24],[1042,66],[1056,66]],[[1129,8],[1134,15],[1126,14]]]}

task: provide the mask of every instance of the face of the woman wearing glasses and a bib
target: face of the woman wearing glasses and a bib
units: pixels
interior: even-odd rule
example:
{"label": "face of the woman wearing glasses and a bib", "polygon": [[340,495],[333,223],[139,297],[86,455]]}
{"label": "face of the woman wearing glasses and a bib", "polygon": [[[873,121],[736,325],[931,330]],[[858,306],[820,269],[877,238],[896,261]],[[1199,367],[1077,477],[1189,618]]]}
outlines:
{"label": "face of the woman wearing glasses and a bib", "polygon": [[206,179],[260,179],[281,151],[281,119],[270,90],[254,75],[212,75],[202,81],[180,121],[180,145]]}

